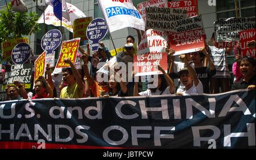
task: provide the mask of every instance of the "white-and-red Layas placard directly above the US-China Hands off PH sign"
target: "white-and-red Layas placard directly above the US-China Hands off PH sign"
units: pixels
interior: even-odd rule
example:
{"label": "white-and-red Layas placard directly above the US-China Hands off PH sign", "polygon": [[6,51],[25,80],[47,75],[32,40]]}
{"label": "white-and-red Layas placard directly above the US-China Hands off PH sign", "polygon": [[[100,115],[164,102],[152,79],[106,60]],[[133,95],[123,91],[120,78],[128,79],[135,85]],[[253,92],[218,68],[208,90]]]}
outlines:
{"label": "white-and-red Layas placard directly above the US-China Hands off PH sign", "polygon": [[168,34],[156,29],[148,29],[142,36],[137,54],[161,53],[166,51]]}

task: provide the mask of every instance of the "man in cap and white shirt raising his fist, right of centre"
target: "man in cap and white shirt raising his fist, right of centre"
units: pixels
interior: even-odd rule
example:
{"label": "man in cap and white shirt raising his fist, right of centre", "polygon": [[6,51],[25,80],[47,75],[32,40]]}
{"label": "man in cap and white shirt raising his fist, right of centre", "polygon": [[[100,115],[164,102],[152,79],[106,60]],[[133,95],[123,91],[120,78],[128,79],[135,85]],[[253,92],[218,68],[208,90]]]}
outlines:
{"label": "man in cap and white shirt raising his fist, right of centre", "polygon": [[180,55],[179,58],[187,67],[178,72],[180,81],[185,86],[185,91],[177,94],[188,96],[191,94],[203,93],[203,84],[198,79],[196,71],[189,65],[184,54]]}

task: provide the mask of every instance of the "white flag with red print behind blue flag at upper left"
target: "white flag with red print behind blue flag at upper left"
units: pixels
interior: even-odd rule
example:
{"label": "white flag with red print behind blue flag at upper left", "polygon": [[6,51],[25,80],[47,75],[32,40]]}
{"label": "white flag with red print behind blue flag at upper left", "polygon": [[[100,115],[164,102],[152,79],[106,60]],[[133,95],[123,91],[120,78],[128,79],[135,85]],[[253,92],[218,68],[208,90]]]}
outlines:
{"label": "white flag with red print behind blue flag at upper left", "polygon": [[[86,15],[84,14],[84,12],[82,12],[81,10],[79,10],[79,8],[67,3],[67,7],[68,10],[70,12],[69,16],[70,16],[70,20],[67,20],[64,18],[62,18],[62,25],[63,27],[67,28],[68,31],[73,32],[73,21],[77,18],[83,18],[86,17]],[[60,26],[60,20],[56,18],[56,16],[53,13],[53,7],[51,5],[49,5],[46,10],[44,11],[44,15],[45,15],[45,23],[48,25],[55,25],[55,26]],[[38,20],[38,23],[44,23],[44,15],[42,14]]]}

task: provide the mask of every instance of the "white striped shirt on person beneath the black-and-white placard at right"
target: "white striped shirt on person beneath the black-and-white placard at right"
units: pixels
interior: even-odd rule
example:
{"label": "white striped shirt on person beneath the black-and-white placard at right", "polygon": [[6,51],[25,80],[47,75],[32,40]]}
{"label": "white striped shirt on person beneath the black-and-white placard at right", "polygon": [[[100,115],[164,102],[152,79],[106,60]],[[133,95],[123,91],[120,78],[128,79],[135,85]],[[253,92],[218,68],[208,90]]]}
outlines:
{"label": "white striped shirt on person beneath the black-and-white placard at right", "polygon": [[212,58],[212,62],[216,68],[216,75],[212,76],[213,78],[231,78],[228,59],[225,49],[218,49],[214,46],[209,46],[209,55]]}

